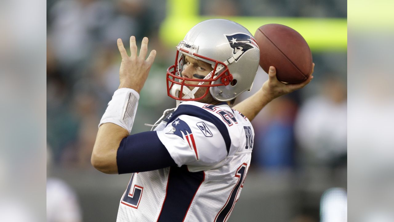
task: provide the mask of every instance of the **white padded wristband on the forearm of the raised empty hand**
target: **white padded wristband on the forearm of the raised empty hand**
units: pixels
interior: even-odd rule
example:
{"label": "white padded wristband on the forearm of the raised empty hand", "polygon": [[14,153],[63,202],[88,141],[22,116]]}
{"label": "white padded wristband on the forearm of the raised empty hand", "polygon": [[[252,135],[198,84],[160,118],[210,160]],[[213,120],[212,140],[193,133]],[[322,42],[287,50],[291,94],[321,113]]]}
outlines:
{"label": "white padded wristband on the forearm of the raised empty hand", "polygon": [[139,94],[134,89],[119,88],[116,90],[102,115],[99,127],[104,123],[112,122],[125,128],[130,134],[137,113],[138,100]]}

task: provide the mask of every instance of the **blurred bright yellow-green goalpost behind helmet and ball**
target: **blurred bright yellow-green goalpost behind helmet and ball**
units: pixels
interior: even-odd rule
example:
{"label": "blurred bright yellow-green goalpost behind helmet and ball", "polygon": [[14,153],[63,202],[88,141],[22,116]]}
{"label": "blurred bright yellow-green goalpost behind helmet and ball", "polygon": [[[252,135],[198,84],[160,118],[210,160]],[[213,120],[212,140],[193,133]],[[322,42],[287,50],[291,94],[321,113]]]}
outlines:
{"label": "blurred bright yellow-green goalpost behind helmet and ball", "polygon": [[[175,47],[195,24],[219,17],[200,16],[199,0],[167,0],[167,17],[160,27],[160,38],[169,47]],[[187,7],[182,7],[187,6]],[[245,26],[252,34],[258,27],[278,23],[299,32],[312,51],[346,51],[347,19],[306,17],[220,17]]]}

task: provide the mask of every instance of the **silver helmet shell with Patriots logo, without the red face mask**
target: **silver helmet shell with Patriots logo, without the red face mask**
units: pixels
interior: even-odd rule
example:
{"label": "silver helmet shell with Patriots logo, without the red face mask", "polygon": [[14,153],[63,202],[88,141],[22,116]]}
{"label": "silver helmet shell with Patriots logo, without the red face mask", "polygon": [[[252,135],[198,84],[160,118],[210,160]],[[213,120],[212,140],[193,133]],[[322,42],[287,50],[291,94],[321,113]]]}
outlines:
{"label": "silver helmet shell with Patriots logo, without the red face mask", "polygon": [[[212,64],[212,68],[217,65],[214,61],[227,64],[234,80],[231,84],[210,87],[214,99],[229,101],[251,89],[260,60],[260,49],[253,35],[242,25],[226,19],[203,21],[190,29],[177,49],[183,49],[180,52],[184,55]],[[215,76],[223,70],[217,71]],[[211,85],[220,83],[221,79],[217,79]]]}

